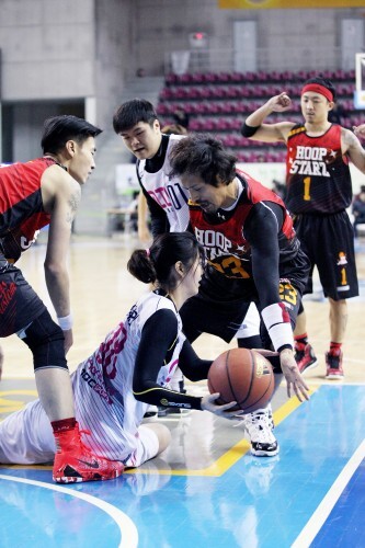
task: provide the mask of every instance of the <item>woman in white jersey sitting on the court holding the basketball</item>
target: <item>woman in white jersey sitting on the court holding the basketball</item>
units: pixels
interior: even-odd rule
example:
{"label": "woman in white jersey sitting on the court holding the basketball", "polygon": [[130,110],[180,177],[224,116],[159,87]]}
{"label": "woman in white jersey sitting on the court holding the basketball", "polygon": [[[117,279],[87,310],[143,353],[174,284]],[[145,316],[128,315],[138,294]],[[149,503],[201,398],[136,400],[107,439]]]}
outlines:
{"label": "woman in white jersey sitting on the court holding the basketball", "polygon": [[[136,250],[129,272],[157,289],[144,294],[99,349],[72,375],[76,418],[94,454],[136,467],[164,450],[169,430],[141,424],[149,404],[208,410],[230,419],[235,402],[215,403],[166,388],[179,367],[191,380],[207,378],[210,361],[199,359],[182,332],[179,309],[197,293],[204,251],[189,232],[159,236],[150,250]],[[39,400],[0,423],[0,463],[39,464],[56,445]]]}

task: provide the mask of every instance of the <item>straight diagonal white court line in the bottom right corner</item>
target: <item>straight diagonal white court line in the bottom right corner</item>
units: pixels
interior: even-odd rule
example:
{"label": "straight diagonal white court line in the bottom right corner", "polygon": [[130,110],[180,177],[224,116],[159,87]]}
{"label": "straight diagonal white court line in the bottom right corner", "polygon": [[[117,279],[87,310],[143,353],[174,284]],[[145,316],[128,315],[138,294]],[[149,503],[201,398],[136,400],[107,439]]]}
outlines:
{"label": "straight diagonal white court line in the bottom right corner", "polygon": [[334,481],[333,486],[328,491],[324,499],[319,504],[319,506],[312,514],[309,522],[301,529],[298,537],[293,543],[292,548],[308,548],[311,545],[317,534],[319,533],[320,528],[322,527],[323,523],[330,515],[333,506],[340,499],[344,488],[347,486],[352,476],[363,461],[364,457],[365,457],[365,439],[361,443],[361,445],[357,447],[357,449],[355,450],[349,463],[342,469],[337,480]]}

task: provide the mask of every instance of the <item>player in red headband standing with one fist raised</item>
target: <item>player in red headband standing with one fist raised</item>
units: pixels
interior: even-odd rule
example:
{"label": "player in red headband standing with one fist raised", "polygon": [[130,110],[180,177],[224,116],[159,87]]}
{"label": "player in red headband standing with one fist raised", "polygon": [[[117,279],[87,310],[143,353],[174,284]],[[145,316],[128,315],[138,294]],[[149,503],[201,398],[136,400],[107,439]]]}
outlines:
{"label": "player in red headband standing with one fist raised", "polygon": [[[333,84],[322,77],[307,80],[300,93],[304,123],[264,124],[272,113],[292,110],[284,91],[250,114],[242,135],[252,140],[282,141],[287,146],[286,206],[294,216],[295,229],[307,253],[311,272],[318,269],[324,295],[330,302],[331,343],[326,353],[329,379],[342,379],[346,299],[358,295],[354,233],[346,208],[352,202],[349,160],[365,173],[365,151],[354,133],[328,121],[335,102]],[[312,292],[312,279],[306,293]],[[301,373],[316,367],[317,357],[308,343],[306,316],[299,310],[295,329],[296,359]]]}

